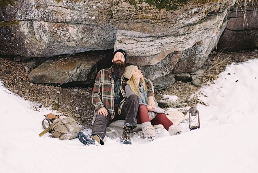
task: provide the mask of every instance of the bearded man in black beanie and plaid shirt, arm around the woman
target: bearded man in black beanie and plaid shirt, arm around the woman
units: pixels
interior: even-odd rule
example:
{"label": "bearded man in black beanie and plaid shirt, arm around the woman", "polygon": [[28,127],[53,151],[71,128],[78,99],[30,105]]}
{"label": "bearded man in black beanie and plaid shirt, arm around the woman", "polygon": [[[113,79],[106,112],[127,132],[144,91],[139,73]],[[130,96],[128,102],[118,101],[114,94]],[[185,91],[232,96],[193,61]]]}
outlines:
{"label": "bearded man in black beanie and plaid shirt, arm around the woman", "polygon": [[[96,107],[91,135],[78,133],[78,139],[84,145],[101,144],[106,135],[106,127],[116,120],[125,120],[120,142],[132,144],[130,132],[137,127],[136,115],[139,98],[136,95],[125,94],[127,78],[123,76],[127,53],[116,50],[113,54],[113,65],[98,72],[92,91],[92,103]],[[148,96],[153,97],[152,82],[146,83]],[[154,101],[153,101],[153,104]]]}

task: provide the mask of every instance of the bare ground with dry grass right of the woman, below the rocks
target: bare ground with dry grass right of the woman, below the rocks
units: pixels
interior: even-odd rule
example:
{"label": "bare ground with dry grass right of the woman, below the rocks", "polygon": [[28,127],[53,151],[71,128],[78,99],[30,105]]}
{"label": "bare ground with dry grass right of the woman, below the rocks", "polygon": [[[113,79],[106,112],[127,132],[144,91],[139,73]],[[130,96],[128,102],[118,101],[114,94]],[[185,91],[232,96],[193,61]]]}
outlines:
{"label": "bare ground with dry grass right of the woman, below the rocks", "polygon": [[[202,67],[204,76],[200,77],[200,79],[203,81],[203,86],[212,84],[218,78],[218,75],[225,70],[227,65],[255,58],[258,58],[258,51],[229,53],[222,50],[212,52]],[[198,95],[203,95],[201,92],[197,92],[199,89],[200,87],[192,85],[191,82],[176,81],[164,90],[155,92],[155,98],[159,102],[159,106],[163,108],[183,108],[197,103],[205,105],[198,99]],[[176,95],[179,99],[177,102],[162,103],[160,101],[165,100],[163,95]],[[184,110],[180,111],[184,112]]]}

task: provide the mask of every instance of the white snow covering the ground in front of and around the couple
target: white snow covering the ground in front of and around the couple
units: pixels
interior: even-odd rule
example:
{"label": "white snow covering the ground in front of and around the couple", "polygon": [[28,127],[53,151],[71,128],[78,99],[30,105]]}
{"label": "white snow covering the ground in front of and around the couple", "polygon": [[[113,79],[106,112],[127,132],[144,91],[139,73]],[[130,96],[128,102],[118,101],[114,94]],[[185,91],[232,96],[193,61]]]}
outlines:
{"label": "white snow covering the ground in front of and around the couple", "polygon": [[[131,146],[106,139],[104,146],[60,141],[43,131],[43,115],[0,86],[1,172],[258,172],[258,60],[230,65],[215,84],[201,88],[201,128]],[[230,73],[230,75],[228,75]],[[238,80],[238,82],[235,82]],[[1,84],[0,84],[1,85]]]}

